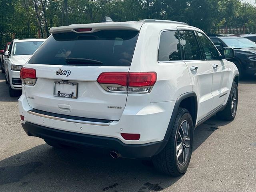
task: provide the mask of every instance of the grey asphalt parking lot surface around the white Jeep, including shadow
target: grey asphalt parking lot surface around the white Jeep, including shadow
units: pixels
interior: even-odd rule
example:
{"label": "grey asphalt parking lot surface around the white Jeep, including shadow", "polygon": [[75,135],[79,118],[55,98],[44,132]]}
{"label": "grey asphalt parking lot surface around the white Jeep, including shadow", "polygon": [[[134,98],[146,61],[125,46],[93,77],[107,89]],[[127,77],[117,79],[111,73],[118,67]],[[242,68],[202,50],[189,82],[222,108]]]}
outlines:
{"label": "grey asphalt parking lot surface around the white Jeep, including shadow", "polygon": [[18,97],[0,73],[0,192],[255,192],[256,78],[240,82],[236,119],[211,118],[196,128],[184,176],[172,178],[147,160],[60,150],[23,131]]}

